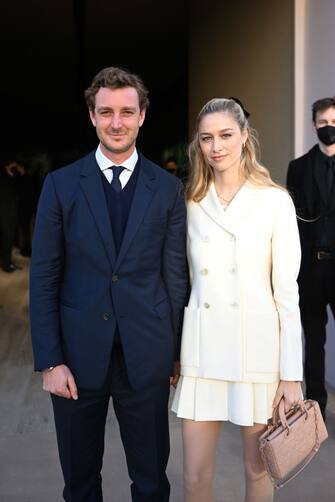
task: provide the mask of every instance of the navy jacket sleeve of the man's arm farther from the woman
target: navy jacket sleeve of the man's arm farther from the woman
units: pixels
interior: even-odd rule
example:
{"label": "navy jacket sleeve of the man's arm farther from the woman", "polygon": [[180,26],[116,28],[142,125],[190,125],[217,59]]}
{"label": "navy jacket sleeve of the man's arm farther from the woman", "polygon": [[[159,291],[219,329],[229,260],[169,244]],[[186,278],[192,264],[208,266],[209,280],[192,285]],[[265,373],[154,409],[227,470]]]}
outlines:
{"label": "navy jacket sleeve of the man's arm farther from the woman", "polygon": [[49,174],[39,200],[30,264],[30,323],[36,371],[64,363],[59,319],[63,263],[62,212]]}

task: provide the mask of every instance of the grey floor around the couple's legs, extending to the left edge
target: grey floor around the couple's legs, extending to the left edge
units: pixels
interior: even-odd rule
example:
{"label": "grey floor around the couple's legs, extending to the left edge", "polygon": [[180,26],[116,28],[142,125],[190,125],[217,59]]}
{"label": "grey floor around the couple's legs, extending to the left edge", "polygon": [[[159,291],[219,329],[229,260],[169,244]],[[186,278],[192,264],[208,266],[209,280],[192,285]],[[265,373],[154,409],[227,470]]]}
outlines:
{"label": "grey floor around the couple's legs, extending to the left edge", "polygon": [[[32,371],[28,325],[28,259],[23,269],[0,272],[0,502],[60,502],[62,477],[55,430],[40,375]],[[112,407],[111,407],[112,408]],[[170,417],[168,467],[171,502],[182,502],[180,421]],[[334,502],[335,394],[330,394],[329,439],[312,463],[276,493],[276,502]],[[103,468],[105,502],[130,501],[129,480],[118,426],[110,409]],[[215,502],[243,501],[243,466],[238,427],[225,423],[218,448]],[[204,501],[207,502],[207,501]]]}

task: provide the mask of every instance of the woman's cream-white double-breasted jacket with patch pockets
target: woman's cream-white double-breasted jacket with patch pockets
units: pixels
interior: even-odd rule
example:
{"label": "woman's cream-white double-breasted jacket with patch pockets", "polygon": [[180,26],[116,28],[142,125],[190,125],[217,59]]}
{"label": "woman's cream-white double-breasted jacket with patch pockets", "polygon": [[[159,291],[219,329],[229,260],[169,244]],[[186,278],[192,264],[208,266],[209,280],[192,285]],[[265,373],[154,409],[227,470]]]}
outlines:
{"label": "woman's cream-white double-breasted jacket with patch pockets", "polygon": [[224,211],[212,184],[187,211],[192,290],[181,374],[302,380],[300,242],[288,193],[247,182]]}

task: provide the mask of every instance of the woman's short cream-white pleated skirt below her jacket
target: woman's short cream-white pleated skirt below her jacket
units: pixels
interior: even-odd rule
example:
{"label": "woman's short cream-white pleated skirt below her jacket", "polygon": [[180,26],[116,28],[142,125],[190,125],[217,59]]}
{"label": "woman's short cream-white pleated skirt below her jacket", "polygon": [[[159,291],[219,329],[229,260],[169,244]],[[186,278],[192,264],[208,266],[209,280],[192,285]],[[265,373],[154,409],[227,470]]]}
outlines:
{"label": "woman's short cream-white pleated skirt below her jacket", "polygon": [[228,382],[181,376],[172,403],[180,418],[228,420],[236,425],[266,424],[279,382]]}

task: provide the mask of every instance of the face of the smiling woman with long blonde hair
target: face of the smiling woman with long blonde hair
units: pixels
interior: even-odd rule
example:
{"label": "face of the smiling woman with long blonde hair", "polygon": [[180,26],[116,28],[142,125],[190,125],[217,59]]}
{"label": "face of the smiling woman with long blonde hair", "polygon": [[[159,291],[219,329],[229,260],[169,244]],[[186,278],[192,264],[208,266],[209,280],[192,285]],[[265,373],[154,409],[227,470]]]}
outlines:
{"label": "face of the smiling woman with long blonde hair", "polygon": [[229,113],[205,115],[199,124],[199,144],[204,158],[215,171],[239,170],[247,131],[241,131]]}

